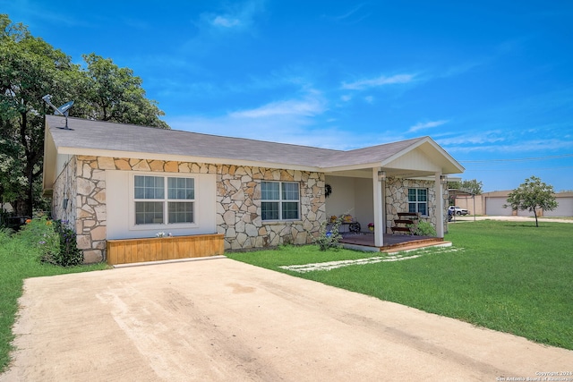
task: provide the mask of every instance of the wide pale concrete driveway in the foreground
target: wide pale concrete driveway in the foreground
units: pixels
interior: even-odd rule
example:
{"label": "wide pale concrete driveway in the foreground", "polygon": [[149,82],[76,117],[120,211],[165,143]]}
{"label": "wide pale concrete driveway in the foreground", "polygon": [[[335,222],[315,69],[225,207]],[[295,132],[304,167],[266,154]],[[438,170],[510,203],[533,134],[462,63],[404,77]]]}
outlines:
{"label": "wide pale concrete driveway in the foreground", "polygon": [[494,381],[573,371],[570,351],[226,258],[32,278],[24,288],[2,381]]}

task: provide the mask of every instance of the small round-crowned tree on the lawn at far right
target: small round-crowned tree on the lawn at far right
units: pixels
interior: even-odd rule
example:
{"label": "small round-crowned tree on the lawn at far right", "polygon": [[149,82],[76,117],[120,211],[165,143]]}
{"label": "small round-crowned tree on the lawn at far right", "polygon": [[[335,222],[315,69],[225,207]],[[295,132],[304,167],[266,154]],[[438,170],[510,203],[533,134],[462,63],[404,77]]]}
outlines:
{"label": "small round-crowned tree on the lawn at far right", "polygon": [[[521,183],[517,189],[509,192],[508,203],[513,210],[529,210],[535,215],[535,226],[538,227],[537,211],[539,209],[551,211],[557,208],[557,201],[553,195],[553,186],[545,184],[541,179],[532,176]],[[509,207],[504,205],[504,208]]]}

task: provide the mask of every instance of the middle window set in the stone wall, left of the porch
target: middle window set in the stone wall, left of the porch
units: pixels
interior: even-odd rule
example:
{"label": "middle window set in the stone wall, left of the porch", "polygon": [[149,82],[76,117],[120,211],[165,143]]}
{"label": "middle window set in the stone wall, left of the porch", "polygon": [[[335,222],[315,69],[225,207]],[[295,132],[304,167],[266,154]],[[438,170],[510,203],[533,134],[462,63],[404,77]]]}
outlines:
{"label": "middle window set in the stone wall, left of the porch", "polygon": [[296,220],[299,218],[298,183],[261,182],[262,220]]}

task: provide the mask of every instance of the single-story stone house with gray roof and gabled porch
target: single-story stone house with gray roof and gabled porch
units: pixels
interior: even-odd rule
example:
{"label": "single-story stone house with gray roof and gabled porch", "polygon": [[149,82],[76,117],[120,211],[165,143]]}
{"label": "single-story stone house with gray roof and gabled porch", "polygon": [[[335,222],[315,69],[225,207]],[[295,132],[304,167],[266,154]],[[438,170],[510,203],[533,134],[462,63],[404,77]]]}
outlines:
{"label": "single-story stone house with gray roof and gabled porch", "polygon": [[[464,168],[430,137],[348,151],[46,116],[44,191],[77,233],[85,262],[107,241],[218,233],[225,250],[312,242],[351,214],[376,246],[398,212],[443,238],[446,174]],[[325,197],[325,186],[332,190]]]}

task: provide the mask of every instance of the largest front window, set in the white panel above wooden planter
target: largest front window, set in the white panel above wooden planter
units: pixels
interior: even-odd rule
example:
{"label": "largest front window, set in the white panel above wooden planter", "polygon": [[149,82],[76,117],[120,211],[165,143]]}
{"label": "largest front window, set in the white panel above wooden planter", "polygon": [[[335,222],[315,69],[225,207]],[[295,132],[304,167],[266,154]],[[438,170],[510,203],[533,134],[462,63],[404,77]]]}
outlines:
{"label": "largest front window, set in the white panel above wooden planter", "polygon": [[135,175],[135,225],[193,223],[193,178]]}

